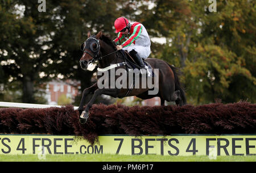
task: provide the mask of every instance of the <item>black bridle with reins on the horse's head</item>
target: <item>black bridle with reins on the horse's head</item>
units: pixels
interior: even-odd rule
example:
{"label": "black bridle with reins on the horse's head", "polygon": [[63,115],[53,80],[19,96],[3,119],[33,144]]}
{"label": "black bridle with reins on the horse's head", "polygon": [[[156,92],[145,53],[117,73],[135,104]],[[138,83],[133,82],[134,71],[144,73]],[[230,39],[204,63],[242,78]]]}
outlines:
{"label": "black bridle with reins on the horse's head", "polygon": [[[96,43],[96,48],[93,48],[93,43],[91,43],[90,45],[87,45],[86,42],[88,42],[88,40],[92,40]],[[84,46],[85,45],[85,46]],[[83,47],[83,48],[82,48]],[[88,52],[85,48],[89,49],[90,51],[92,51],[94,54]],[[102,60],[102,58],[108,57],[111,54],[114,54],[116,52],[118,52],[118,50],[115,50],[112,53],[106,54],[105,56],[100,56],[100,40],[96,39],[95,37],[89,37],[82,45],[81,45],[81,50],[85,53],[88,53],[90,56],[92,56],[92,60],[89,61],[89,63],[98,61],[98,60]]]}

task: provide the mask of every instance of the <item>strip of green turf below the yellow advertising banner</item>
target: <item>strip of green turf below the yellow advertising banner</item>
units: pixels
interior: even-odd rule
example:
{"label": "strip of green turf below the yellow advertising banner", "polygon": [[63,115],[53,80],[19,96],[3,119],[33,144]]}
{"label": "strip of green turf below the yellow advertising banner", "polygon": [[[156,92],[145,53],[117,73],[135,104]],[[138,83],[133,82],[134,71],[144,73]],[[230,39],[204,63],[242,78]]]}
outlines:
{"label": "strip of green turf below the yellow advertising banner", "polygon": [[3,162],[255,162],[256,156],[166,156],[166,155],[0,155]]}

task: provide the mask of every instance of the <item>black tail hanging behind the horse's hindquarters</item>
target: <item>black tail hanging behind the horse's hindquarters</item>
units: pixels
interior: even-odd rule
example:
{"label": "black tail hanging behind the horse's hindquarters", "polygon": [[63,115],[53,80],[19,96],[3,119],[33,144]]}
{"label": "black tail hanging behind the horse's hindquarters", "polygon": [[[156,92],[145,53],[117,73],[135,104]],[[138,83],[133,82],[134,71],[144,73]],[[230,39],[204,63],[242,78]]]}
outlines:
{"label": "black tail hanging behind the horse's hindquarters", "polygon": [[174,72],[175,91],[180,90],[182,105],[187,104],[187,98],[185,95],[184,88],[181,86],[180,81],[179,81],[180,70],[179,70],[179,68],[177,68],[175,66],[172,66],[170,64],[168,64],[168,65],[171,67],[172,71]]}

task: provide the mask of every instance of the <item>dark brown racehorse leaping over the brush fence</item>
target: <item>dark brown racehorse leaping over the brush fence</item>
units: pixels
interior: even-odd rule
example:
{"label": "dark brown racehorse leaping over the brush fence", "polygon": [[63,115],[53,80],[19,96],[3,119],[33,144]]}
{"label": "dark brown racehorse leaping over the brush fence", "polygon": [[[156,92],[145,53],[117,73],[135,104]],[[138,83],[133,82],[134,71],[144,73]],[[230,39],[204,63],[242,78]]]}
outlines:
{"label": "dark brown racehorse leaping over the brush fence", "polygon": [[[98,61],[98,72],[99,71],[110,71],[114,70],[128,70],[129,67],[129,58],[125,58],[125,53],[121,50],[117,50],[115,43],[110,39],[109,36],[104,35],[102,32],[98,32],[97,35],[90,35],[88,32],[88,39],[84,41],[81,45],[81,50],[83,51],[82,57],[80,58],[80,66],[82,69],[86,70],[88,65],[94,61]],[[124,98],[126,96],[137,96],[141,99],[151,99],[158,96],[161,100],[161,105],[164,106],[165,100],[167,102],[175,102],[176,105],[183,106],[187,104],[185,92],[183,87],[181,87],[179,78],[178,78],[178,69],[163,60],[159,60],[156,58],[147,58],[144,60],[148,65],[150,65],[152,70],[158,70],[158,85],[154,85],[154,88],[157,87],[158,92],[155,94],[148,94],[152,88],[149,87],[141,87],[143,83],[140,83],[139,88],[131,88],[131,87],[99,87],[98,80],[102,77],[97,73],[97,82],[94,83],[89,88],[85,88],[82,92],[82,98],[80,102],[80,106],[78,108],[80,113],[80,123],[86,123],[89,117],[89,109],[92,107],[98,95],[104,94],[109,95],[114,98]],[[132,61],[130,61],[132,62]],[[135,74],[136,75],[136,74]],[[109,75],[106,75],[109,77]],[[133,76],[134,77],[134,76]],[[128,80],[128,74],[126,75]],[[106,79],[106,78],[104,78]],[[139,79],[142,81],[142,76],[139,75]],[[154,77],[155,79],[155,77]],[[115,76],[114,79],[111,77],[106,79],[106,86],[110,86],[113,82],[117,82],[118,76]],[[134,81],[133,81],[134,82]],[[153,80],[153,82],[155,82]],[[123,82],[125,83],[125,82]],[[134,83],[133,83],[134,84]],[[153,88],[153,89],[154,89]],[[93,94],[89,103],[85,106],[85,99],[88,94]]]}

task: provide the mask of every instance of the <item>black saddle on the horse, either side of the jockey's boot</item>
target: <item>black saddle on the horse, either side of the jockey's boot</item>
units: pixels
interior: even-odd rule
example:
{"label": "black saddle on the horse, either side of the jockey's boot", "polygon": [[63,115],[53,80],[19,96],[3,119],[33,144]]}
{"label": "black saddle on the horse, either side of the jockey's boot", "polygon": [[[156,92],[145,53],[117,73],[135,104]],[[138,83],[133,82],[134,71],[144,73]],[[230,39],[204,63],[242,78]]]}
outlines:
{"label": "black saddle on the horse, either side of the jockey's boot", "polygon": [[[123,56],[125,57],[126,65],[129,69],[141,69],[141,67],[134,61],[133,57],[129,54],[127,50],[121,50]],[[145,67],[148,69],[148,72],[151,71],[151,77],[154,77],[154,73],[152,71],[152,67],[142,58]]]}

